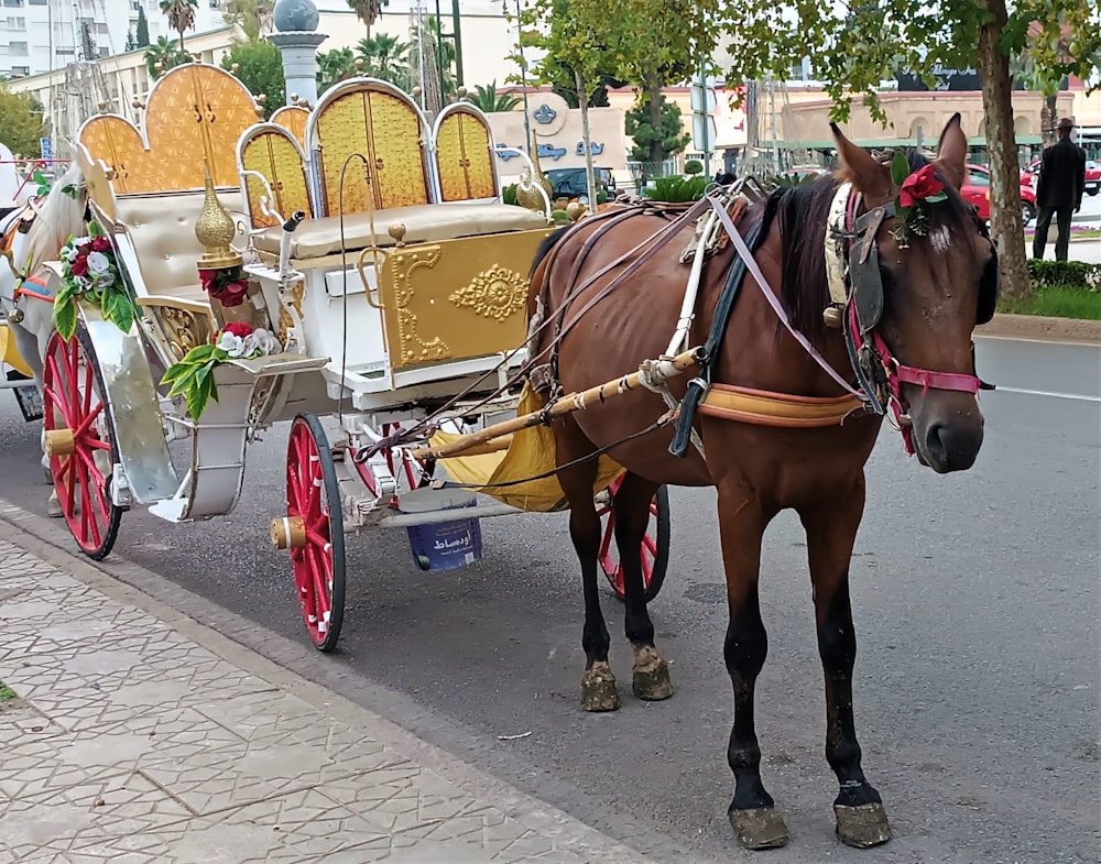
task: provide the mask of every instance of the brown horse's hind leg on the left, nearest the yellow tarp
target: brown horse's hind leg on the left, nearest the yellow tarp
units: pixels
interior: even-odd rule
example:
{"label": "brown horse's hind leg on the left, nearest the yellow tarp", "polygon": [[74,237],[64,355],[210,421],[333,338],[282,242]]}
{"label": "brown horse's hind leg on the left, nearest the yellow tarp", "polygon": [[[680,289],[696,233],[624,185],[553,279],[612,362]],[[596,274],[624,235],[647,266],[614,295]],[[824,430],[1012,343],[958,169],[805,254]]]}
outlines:
{"label": "brown horse's hind leg on the left, nearest the yellow tarp", "polygon": [[[565,417],[555,423],[555,458],[559,466],[588,456],[595,450],[573,417]],[[597,587],[600,517],[592,500],[592,486],[596,480],[596,459],[581,462],[558,474],[558,482],[569,501],[569,537],[581,565],[581,583],[585,589],[585,630],[581,633],[585,674],[581,677],[581,708],[586,711],[614,711],[620,707],[620,698],[615,689],[615,676],[612,675],[608,663],[608,646],[611,639],[603,613],[600,611],[600,592]]]}

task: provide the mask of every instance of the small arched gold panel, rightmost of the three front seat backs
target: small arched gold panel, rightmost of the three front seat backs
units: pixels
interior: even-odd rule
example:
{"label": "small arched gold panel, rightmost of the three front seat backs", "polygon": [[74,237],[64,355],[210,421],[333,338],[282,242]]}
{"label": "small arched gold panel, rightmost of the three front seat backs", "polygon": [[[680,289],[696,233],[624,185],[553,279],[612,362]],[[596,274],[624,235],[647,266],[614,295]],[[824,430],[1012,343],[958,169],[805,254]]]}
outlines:
{"label": "small arched gold panel, rightmost of the three front seat backs", "polygon": [[489,127],[480,114],[455,105],[436,129],[436,166],[445,201],[497,197]]}

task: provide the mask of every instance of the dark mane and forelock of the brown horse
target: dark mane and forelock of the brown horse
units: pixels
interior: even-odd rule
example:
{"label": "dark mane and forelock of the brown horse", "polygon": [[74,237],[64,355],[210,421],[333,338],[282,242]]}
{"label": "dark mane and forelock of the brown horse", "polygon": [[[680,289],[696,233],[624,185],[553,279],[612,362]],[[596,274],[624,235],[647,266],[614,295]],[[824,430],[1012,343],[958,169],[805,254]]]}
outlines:
{"label": "dark mane and forelock of the brown horse", "polygon": [[[929,164],[917,151],[908,151],[906,155],[912,172]],[[939,173],[937,176],[945,182]],[[768,208],[775,208],[780,215],[784,306],[792,325],[816,341],[824,336],[822,309],[829,304],[826,221],[840,182],[837,176],[826,175],[813,183],[782,187],[768,200]],[[945,190],[948,199],[927,208],[928,227],[955,232],[968,223],[968,205],[948,183],[945,183]]]}

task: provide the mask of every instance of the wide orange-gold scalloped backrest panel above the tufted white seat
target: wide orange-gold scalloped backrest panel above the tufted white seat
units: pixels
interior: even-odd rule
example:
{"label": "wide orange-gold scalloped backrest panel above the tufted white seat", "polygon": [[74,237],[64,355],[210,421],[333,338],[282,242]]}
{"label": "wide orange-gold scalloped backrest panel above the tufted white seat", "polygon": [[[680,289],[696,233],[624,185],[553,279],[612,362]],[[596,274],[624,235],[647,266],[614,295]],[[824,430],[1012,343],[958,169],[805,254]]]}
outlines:
{"label": "wide orange-gold scalloped backrest panel above the tufted white seat", "polygon": [[145,138],[120,117],[94,117],[79,140],[116,171],[119,194],[203,188],[204,164],[216,186],[237,186],[237,142],[255,122],[255,101],[225,69],[170,69],[150,91]]}

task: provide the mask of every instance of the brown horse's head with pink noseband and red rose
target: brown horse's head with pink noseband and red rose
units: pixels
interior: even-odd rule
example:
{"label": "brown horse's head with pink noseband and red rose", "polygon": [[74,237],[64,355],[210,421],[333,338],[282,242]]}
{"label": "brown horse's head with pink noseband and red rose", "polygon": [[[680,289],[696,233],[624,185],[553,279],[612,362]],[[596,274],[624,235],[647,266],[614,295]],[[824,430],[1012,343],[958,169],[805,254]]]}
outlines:
{"label": "brown horse's head with pink noseband and red rose", "polygon": [[893,403],[925,464],[940,473],[970,468],[983,424],[971,331],[993,315],[998,261],[959,195],[967,158],[959,114],[945,127],[931,166],[908,156],[902,184],[898,166],[893,179],[887,164],[837,127],[833,134],[839,174],[860,194],[848,220],[852,302],[844,325],[864,383]]}

